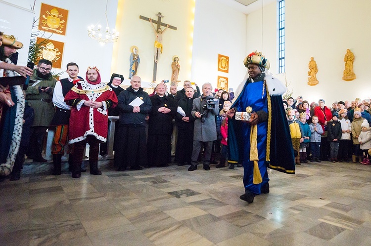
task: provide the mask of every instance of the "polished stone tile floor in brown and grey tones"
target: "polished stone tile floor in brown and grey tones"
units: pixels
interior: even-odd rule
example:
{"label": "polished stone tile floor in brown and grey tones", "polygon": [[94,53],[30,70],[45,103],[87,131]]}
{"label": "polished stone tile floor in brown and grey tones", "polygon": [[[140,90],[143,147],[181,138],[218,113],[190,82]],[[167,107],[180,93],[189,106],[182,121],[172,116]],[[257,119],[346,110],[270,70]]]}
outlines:
{"label": "polished stone tile floor in brown and grey tones", "polygon": [[269,170],[271,192],[250,205],[242,167],[199,167],[6,179],[0,245],[371,245],[371,166]]}

